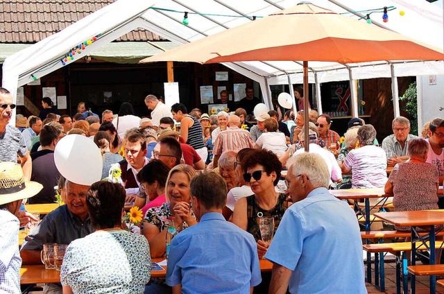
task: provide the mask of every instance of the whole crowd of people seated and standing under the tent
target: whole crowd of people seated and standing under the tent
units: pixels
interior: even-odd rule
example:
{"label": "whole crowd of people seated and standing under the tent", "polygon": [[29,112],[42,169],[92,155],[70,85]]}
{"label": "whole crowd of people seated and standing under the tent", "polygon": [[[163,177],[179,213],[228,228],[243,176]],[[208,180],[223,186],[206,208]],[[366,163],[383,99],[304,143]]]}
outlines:
{"label": "whole crowd of people seated and standing under the tent", "polygon": [[[355,212],[327,189],[384,188],[396,210],[444,208],[436,193],[444,120],[429,122],[420,138],[397,117],[379,146],[375,128],[358,118],[343,138],[330,116],[310,109],[247,121],[258,102],[253,89],[247,96],[244,107],[209,115],[148,95],[151,118],[136,116],[130,103],[101,117],[79,103],[78,114],[59,116],[44,98],[40,116],[17,116],[20,130],[9,124],[12,95],[0,88],[0,248],[7,252],[0,290],[18,293],[20,259],[39,264],[43,245],[58,243],[69,245],[61,284],[46,284],[44,293],[366,293]],[[101,151],[101,181],[61,175],[54,150],[72,134]],[[55,202],[55,186],[66,205],[47,214],[19,251],[19,223],[34,218],[22,199]],[[124,205],[142,209],[140,235],[122,225]],[[262,217],[273,218],[271,242],[262,238]],[[176,236],[167,277],[150,279],[151,258],[166,254],[170,222]],[[261,274],[259,259],[274,263],[271,275]]]}

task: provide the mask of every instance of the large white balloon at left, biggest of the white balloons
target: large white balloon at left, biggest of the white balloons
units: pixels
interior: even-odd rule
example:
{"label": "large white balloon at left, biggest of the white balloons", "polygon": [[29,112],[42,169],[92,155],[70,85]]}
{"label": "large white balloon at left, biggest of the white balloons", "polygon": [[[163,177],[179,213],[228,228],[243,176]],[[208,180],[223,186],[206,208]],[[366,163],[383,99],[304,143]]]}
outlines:
{"label": "large white balloon at left, biggest of the white balloons", "polygon": [[82,135],[63,137],[54,150],[58,171],[69,182],[91,186],[101,180],[102,155],[92,139]]}

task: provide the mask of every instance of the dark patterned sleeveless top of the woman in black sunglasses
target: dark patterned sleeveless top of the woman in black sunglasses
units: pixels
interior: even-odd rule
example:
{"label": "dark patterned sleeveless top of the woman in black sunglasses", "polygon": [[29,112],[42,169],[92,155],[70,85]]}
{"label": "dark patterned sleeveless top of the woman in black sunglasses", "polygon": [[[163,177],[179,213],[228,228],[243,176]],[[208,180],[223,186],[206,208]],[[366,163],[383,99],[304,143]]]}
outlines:
{"label": "dark patterned sleeveless top of the woman in black sunglasses", "polygon": [[258,240],[261,240],[261,232],[259,230],[259,223],[257,221],[257,214],[259,212],[262,212],[263,216],[273,216],[275,219],[275,230],[278,230],[280,220],[282,219],[282,216],[284,216],[284,212],[287,210],[289,204],[285,200],[287,196],[285,196],[284,193],[279,194],[278,202],[276,202],[275,207],[273,207],[270,210],[265,210],[259,207],[259,204],[257,204],[255,195],[247,196],[247,232],[253,235],[255,237],[256,242]]}

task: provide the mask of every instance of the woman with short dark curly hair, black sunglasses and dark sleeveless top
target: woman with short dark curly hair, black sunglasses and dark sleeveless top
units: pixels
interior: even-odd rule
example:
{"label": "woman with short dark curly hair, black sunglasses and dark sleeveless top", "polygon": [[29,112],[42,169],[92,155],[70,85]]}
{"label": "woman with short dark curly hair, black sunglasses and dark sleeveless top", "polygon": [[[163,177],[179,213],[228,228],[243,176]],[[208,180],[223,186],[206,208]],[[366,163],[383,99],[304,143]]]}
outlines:
{"label": "woman with short dark curly hair, black sunglasses and dark sleeveless top", "polygon": [[250,184],[254,194],[237,200],[232,221],[241,229],[253,234],[259,257],[263,257],[268,244],[261,239],[258,218],[273,217],[276,231],[288,207],[285,194],[275,191],[275,186],[280,180],[282,164],[273,152],[254,150],[245,161],[242,161],[241,167],[244,171],[244,180]]}

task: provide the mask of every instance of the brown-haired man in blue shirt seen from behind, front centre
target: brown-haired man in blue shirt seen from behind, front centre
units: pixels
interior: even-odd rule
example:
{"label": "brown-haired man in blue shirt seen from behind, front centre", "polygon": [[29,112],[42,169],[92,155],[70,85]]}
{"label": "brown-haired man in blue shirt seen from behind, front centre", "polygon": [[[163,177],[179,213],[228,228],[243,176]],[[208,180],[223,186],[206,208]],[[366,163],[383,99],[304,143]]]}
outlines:
{"label": "brown-haired man in blue shirt seen from behind, front centre", "polygon": [[261,282],[256,242],[223,218],[225,181],[202,173],[190,191],[199,223],[171,241],[167,284],[173,293],[250,293]]}

